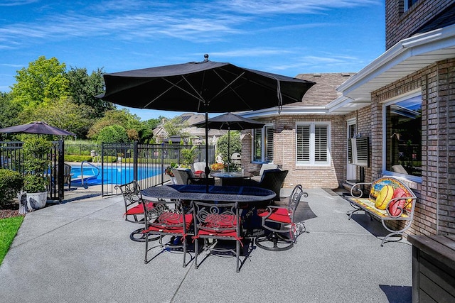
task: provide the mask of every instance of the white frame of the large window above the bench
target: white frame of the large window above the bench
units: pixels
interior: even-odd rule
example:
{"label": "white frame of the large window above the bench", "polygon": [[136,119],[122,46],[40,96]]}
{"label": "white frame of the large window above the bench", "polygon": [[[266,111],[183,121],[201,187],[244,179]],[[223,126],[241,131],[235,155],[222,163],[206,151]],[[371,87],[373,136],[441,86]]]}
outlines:
{"label": "white frame of the large window above the bench", "polygon": [[405,174],[400,174],[398,172],[391,172],[390,170],[387,170],[387,136],[384,136],[384,134],[387,133],[387,125],[386,125],[386,123],[387,123],[387,115],[386,115],[387,106],[390,106],[395,103],[399,103],[401,101],[405,101],[407,99],[412,99],[415,97],[420,97],[420,99],[422,99],[422,89],[414,89],[413,91],[408,92],[407,94],[402,94],[393,99],[386,100],[382,104],[382,175],[402,177],[406,180],[422,183],[422,177],[417,177],[417,176],[413,176],[413,175],[405,175]]}

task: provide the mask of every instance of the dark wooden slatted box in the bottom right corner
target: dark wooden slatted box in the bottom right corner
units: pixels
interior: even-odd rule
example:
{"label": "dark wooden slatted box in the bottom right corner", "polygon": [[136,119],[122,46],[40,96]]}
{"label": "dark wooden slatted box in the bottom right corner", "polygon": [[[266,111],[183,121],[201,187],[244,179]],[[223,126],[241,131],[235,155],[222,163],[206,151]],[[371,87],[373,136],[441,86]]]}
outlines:
{"label": "dark wooden slatted box in the bottom right corner", "polygon": [[412,302],[455,302],[455,236],[408,236]]}

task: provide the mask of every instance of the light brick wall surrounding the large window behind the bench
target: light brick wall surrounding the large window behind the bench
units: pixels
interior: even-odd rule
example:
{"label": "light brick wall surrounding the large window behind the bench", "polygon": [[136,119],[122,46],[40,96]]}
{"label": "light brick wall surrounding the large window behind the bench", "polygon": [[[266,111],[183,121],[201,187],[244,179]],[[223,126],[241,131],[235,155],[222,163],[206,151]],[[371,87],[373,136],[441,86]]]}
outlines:
{"label": "light brick wall surrounding the large window behind the bench", "polygon": [[422,90],[422,184],[407,182],[418,197],[408,232],[455,234],[455,58],[373,92],[370,180],[382,172],[382,102],[414,89]]}

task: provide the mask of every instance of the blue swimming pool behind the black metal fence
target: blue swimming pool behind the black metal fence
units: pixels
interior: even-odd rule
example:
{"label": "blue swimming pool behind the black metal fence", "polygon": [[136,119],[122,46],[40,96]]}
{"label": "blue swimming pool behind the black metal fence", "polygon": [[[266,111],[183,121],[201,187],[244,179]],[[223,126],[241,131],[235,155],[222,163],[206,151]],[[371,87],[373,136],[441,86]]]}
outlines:
{"label": "blue swimming pool behind the black metal fence", "polygon": [[[80,165],[72,166],[71,173],[73,181],[71,184],[82,184],[82,173],[84,175],[84,184],[97,185],[102,184],[101,167],[92,167],[85,165],[83,170],[80,170]],[[138,168],[137,176],[139,180],[154,177],[161,174],[161,169],[157,167],[142,167]],[[104,167],[103,175],[105,184],[125,184],[134,180],[133,167]]]}

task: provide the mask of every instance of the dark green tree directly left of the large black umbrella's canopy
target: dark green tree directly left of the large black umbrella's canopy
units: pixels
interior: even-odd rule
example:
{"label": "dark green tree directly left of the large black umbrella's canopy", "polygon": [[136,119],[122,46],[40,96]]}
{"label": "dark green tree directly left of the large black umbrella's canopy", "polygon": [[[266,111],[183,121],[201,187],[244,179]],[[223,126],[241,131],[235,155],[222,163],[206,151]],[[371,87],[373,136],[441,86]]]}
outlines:
{"label": "dark green tree directly left of the large black umbrella's canopy", "polygon": [[114,104],[102,99],[95,98],[103,92],[104,79],[102,69],[97,69],[88,75],[86,68],[71,67],[66,73],[66,78],[70,84],[70,96],[76,104],[92,107],[92,118],[102,118],[106,111],[115,109]]}

